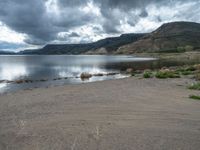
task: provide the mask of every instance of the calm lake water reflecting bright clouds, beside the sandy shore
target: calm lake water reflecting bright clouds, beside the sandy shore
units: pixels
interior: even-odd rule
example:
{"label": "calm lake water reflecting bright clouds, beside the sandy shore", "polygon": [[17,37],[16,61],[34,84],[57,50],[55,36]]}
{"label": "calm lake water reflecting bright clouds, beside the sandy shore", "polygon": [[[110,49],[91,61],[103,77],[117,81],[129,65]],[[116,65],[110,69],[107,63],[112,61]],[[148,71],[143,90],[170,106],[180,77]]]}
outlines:
{"label": "calm lake water reflecting bright clouds, beside the sandy shore", "polygon": [[[0,93],[47,87],[63,84],[76,84],[124,78],[121,70],[130,66],[140,69],[153,62],[152,58],[130,56],[0,56]],[[112,76],[92,77],[82,81],[80,74],[88,72],[119,73]],[[60,78],[59,80],[56,80]],[[7,83],[7,81],[33,80],[33,83]],[[2,82],[6,80],[6,82]],[[45,80],[45,81],[44,81]]]}

